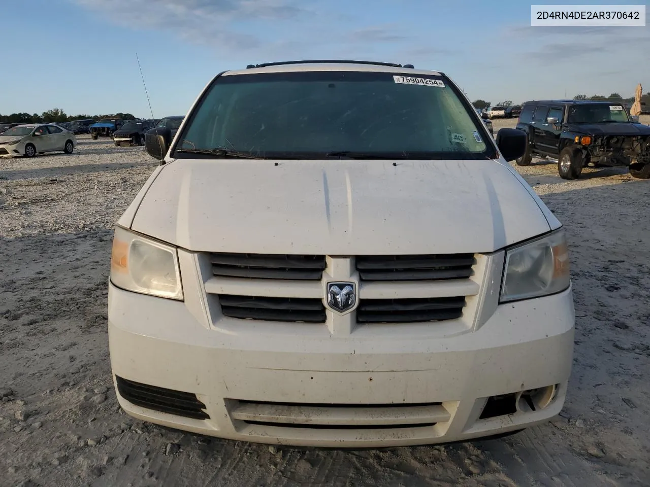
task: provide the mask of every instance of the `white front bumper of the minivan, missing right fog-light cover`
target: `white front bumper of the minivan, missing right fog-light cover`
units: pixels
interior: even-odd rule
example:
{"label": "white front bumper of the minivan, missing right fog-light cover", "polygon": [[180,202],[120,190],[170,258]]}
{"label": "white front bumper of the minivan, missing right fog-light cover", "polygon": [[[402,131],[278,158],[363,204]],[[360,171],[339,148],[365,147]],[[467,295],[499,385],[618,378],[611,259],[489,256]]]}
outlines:
{"label": "white front bumper of the minivan, missing right fog-light cover", "polygon": [[[251,328],[250,321],[222,318],[231,323],[210,328],[204,319],[186,303],[109,284],[110,362],[128,414],[261,443],[381,447],[469,440],[558,414],[573,357],[570,288],[500,305],[478,330],[445,338],[402,334],[399,325],[374,337],[335,337],[326,327],[296,336],[278,323]],[[196,394],[209,418],[135,405],[120,394],[118,377]],[[520,401],[513,414],[480,419],[488,397],[545,386],[557,386],[547,407],[533,411]],[[429,409],[414,412],[418,405]]]}

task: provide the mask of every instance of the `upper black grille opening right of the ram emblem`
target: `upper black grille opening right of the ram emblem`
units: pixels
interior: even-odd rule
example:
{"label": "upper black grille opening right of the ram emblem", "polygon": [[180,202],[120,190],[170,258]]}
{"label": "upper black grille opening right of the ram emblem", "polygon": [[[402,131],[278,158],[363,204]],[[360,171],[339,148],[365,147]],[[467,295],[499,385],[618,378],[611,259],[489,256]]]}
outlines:
{"label": "upper black grille opening right of the ram emblem", "polygon": [[476,263],[473,254],[357,256],[361,281],[442,281],[467,279]]}

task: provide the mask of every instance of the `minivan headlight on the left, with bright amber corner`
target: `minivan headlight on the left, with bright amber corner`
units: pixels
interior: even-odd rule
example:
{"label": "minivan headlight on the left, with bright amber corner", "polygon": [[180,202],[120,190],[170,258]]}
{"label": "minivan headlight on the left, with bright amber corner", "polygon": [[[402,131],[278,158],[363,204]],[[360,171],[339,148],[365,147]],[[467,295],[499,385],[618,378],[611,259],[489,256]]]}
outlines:
{"label": "minivan headlight on the left, with bright amber corner", "polygon": [[175,247],[120,227],[113,236],[110,281],[127,291],[183,299]]}

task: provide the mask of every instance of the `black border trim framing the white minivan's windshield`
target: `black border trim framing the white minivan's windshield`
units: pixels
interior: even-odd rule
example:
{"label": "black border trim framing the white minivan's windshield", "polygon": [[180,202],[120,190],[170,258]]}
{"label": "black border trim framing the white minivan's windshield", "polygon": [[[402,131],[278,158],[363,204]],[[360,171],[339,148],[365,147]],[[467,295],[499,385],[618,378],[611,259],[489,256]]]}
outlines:
{"label": "black border trim framing the white minivan's windshield", "polygon": [[[286,81],[287,78],[291,79],[296,79],[300,81],[301,79],[304,81],[305,79],[315,79],[318,80],[318,77],[322,79],[328,79],[332,75],[338,75],[346,78],[346,81],[379,81],[379,82],[385,82],[385,79],[382,79],[380,77],[382,76],[408,76],[409,74],[403,73],[403,72],[393,72],[393,71],[277,71],[273,73],[239,73],[236,75],[227,75],[224,76],[224,73],[227,73],[228,71],[222,71],[216,77],[214,77],[213,81],[203,90],[203,93],[201,93],[198,101],[196,101],[195,105],[192,107],[192,111],[190,114],[188,114],[188,121],[185,123],[185,127],[183,127],[183,132],[180,134],[180,136],[175,137],[175,142],[171,147],[171,150],[169,152],[171,158],[188,158],[187,154],[185,156],[180,155],[177,152],[177,147],[179,147],[180,144],[183,143],[185,138],[187,138],[187,133],[192,127],[192,123],[194,123],[194,119],[196,118],[196,114],[199,112],[201,106],[203,106],[203,103],[205,102],[206,97],[211,94],[212,90],[214,89],[214,86],[217,83],[240,83],[240,82],[266,82],[266,81]],[[496,159],[499,157],[499,153],[497,151],[497,148],[494,144],[494,140],[491,136],[491,134],[487,131],[487,127],[483,121],[483,119],[476,113],[476,107],[472,105],[467,99],[465,99],[465,96],[461,92],[461,90],[452,82],[447,75],[443,73],[438,73],[438,74],[420,74],[420,73],[413,73],[410,74],[410,77],[418,77],[418,78],[424,78],[424,79],[437,79],[439,81],[442,81],[445,83],[445,86],[448,86],[452,92],[458,97],[460,100],[461,105],[465,108],[467,113],[469,114],[470,118],[473,118],[474,121],[474,128],[478,133],[480,134],[481,138],[484,140],[486,144],[486,150],[481,152],[481,153],[471,153],[471,152],[463,152],[463,153],[455,153],[455,152],[449,152],[449,153],[444,153],[444,157],[435,157],[435,156],[429,156],[429,157],[424,157],[424,159],[440,159],[440,158],[448,158],[448,159],[454,159],[454,160],[463,160],[463,159],[471,159],[471,160],[479,160],[479,159]],[[434,153],[429,153],[429,154],[434,154]],[[436,155],[440,155],[441,153],[435,153]],[[287,156],[289,156],[289,153],[287,153]],[[267,158],[272,158],[271,156],[265,156]],[[295,155],[291,155],[288,158],[298,158]],[[305,157],[309,158],[309,157]],[[331,160],[331,157],[326,157],[324,156],[324,153],[318,153],[318,156],[315,156],[313,158],[322,158],[322,159],[329,159]],[[404,158],[404,157],[402,157]],[[414,158],[415,159],[415,158]]]}

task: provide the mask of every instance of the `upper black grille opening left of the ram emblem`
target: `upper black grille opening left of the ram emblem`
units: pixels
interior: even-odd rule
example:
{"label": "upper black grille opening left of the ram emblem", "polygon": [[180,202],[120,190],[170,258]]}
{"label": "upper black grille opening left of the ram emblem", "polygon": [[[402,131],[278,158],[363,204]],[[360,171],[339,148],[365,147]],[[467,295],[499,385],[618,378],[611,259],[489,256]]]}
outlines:
{"label": "upper black grille opening left of the ram emblem", "polygon": [[213,275],[250,279],[318,281],[326,268],[324,255],[213,253]]}

